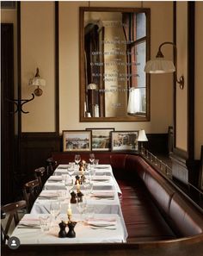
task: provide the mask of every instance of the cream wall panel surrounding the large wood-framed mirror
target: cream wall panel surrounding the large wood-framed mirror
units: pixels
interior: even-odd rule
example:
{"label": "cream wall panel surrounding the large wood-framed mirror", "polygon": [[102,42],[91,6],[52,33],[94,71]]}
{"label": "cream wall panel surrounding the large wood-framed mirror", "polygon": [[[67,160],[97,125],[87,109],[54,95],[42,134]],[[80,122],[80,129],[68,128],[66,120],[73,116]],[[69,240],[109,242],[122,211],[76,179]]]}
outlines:
{"label": "cream wall panel surrounding the large wood-framed mirror", "polygon": [[[79,122],[79,7],[89,2],[59,2],[59,116],[64,129],[116,128],[147,133],[167,133],[173,122],[172,75],[151,75],[151,122]],[[141,2],[90,2],[91,7],[141,7]],[[163,41],[173,41],[173,3],[143,2],[151,8],[151,57]],[[164,49],[172,59],[172,50]]]}

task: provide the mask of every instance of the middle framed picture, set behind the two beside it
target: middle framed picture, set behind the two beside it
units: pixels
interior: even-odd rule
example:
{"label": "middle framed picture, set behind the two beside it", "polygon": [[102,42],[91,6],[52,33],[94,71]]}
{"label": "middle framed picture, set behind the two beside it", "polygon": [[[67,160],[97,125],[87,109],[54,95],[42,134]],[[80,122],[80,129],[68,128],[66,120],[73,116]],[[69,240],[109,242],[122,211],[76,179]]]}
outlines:
{"label": "middle framed picture, set behind the two beside it", "polygon": [[92,150],[109,151],[111,149],[111,132],[114,128],[86,128],[92,132]]}

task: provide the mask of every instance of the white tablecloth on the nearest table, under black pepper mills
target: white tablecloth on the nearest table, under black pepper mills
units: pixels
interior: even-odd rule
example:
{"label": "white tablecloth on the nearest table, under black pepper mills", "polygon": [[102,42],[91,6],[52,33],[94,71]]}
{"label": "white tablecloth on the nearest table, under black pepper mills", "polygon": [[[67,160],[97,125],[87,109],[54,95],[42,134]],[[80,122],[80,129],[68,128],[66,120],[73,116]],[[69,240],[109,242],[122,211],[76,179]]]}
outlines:
{"label": "white tablecloth on the nearest table, under black pepper mills", "polygon": [[[31,218],[36,219],[40,215],[24,215],[23,219]],[[120,220],[119,215],[95,215],[95,219],[106,219],[114,218],[116,221],[116,225],[114,226],[115,229],[106,229],[106,228],[99,228],[94,229],[87,225],[85,222],[77,222],[76,227],[74,228],[76,232],[75,238],[58,238],[58,222],[61,220],[67,220],[66,215],[60,215],[58,222],[52,225],[52,228],[47,231],[43,232],[40,228],[29,228],[29,227],[21,227],[21,222],[19,223],[12,236],[16,236],[20,239],[21,244],[68,244],[68,243],[114,243],[114,242],[126,242],[126,231],[123,228],[123,224]],[[73,215],[72,221],[78,221],[80,219],[79,215]],[[66,232],[68,228],[66,228]]]}

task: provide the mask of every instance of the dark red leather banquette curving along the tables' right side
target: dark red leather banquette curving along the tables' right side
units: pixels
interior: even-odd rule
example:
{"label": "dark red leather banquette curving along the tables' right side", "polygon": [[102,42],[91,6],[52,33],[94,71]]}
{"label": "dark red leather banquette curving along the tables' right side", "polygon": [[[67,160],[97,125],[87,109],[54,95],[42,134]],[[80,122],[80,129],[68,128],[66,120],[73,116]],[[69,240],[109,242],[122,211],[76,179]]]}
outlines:
{"label": "dark red leather banquette curving along the tables' right side", "polygon": [[[89,153],[81,153],[89,160]],[[203,241],[203,211],[140,155],[95,153],[101,164],[112,165],[120,184],[121,207],[129,241],[189,239]],[[73,153],[52,153],[58,164],[73,161]]]}

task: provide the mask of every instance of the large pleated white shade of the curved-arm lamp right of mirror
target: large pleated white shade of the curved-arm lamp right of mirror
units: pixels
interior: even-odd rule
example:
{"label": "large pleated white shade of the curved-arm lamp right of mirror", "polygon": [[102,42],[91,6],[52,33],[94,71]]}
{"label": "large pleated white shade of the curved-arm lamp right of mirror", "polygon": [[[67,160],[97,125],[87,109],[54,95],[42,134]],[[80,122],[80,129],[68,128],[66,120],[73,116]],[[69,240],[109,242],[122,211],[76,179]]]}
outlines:
{"label": "large pleated white shade of the curved-arm lamp right of mirror", "polygon": [[147,61],[145,65],[145,72],[152,74],[172,73],[175,72],[175,66],[171,60],[157,58]]}

